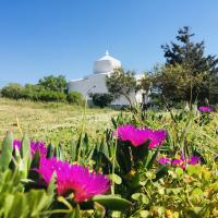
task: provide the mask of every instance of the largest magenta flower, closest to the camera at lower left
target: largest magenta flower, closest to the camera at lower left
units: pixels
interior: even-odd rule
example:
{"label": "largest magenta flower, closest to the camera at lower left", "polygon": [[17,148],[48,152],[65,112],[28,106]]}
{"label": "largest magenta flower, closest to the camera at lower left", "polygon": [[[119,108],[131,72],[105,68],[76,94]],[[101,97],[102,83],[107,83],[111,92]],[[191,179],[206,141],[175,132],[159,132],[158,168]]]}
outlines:
{"label": "largest magenta flower, closest to the camera at lower left", "polygon": [[104,174],[90,172],[83,166],[70,165],[56,158],[41,157],[38,172],[47,184],[56,173],[58,194],[64,195],[72,191],[77,203],[104,194],[110,189],[110,180]]}

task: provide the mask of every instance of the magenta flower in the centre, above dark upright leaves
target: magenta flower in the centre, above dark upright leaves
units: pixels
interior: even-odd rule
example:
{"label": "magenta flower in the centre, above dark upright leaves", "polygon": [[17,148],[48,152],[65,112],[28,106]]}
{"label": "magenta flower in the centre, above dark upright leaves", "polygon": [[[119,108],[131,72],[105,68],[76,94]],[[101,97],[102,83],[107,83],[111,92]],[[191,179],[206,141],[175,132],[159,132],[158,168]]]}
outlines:
{"label": "magenta flower in the centre, above dark upright leaves", "polygon": [[152,130],[152,129],[136,129],[134,125],[120,125],[114,132],[114,135],[123,141],[131,142],[132,146],[140,146],[146,141],[149,141],[148,148],[154,148],[162,144],[167,137],[165,130]]}

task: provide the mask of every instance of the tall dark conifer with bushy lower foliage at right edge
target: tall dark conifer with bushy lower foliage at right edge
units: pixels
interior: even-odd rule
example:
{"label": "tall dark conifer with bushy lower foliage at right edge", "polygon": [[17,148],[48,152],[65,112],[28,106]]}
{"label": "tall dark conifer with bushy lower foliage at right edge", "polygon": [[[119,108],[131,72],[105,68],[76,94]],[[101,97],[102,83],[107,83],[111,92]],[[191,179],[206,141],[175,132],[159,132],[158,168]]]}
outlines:
{"label": "tall dark conifer with bushy lower foliage at right edge", "polygon": [[[218,80],[218,59],[216,56],[205,56],[204,41],[194,43],[193,36],[190,27],[184,26],[178,32],[177,43],[161,46],[166,58],[166,68],[162,69],[164,76],[159,77],[158,87],[161,92],[165,90],[164,93],[168,97],[171,94],[167,92],[173,92],[169,88],[170,86],[171,88],[177,87],[177,89],[185,89],[186,87],[186,92],[181,92],[181,95],[178,94],[178,100],[184,98],[185,100],[197,98],[201,101],[206,98],[215,99],[216,86],[214,84],[217,84]],[[178,73],[174,72],[177,70],[179,70]],[[169,83],[161,81],[161,78],[167,77],[171,78]],[[172,98],[174,97],[172,96]]]}

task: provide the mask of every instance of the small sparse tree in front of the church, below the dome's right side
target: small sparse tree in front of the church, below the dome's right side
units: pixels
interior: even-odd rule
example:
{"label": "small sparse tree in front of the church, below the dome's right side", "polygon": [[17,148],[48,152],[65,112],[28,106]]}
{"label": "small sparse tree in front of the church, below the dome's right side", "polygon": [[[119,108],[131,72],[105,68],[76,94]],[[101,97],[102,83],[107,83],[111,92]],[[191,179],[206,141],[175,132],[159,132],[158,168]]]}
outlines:
{"label": "small sparse tree in front of the church, below the dome's right side", "polygon": [[124,71],[123,69],[114,69],[114,72],[106,77],[106,85],[109,93],[114,99],[124,96],[130,105],[133,102],[129,97],[131,92],[137,90],[135,73],[133,71]]}

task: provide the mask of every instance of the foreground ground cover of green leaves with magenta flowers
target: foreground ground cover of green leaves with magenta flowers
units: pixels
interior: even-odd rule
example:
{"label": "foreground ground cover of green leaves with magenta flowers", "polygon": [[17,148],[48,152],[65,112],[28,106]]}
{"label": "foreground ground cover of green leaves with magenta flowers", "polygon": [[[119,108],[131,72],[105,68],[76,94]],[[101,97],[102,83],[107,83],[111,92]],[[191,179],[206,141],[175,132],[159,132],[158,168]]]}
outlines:
{"label": "foreground ground cover of green leaves with magenta flowers", "polygon": [[81,109],[81,128],[64,144],[61,134],[7,134],[1,217],[218,216],[217,112],[135,107],[111,112],[95,136],[88,112]]}

